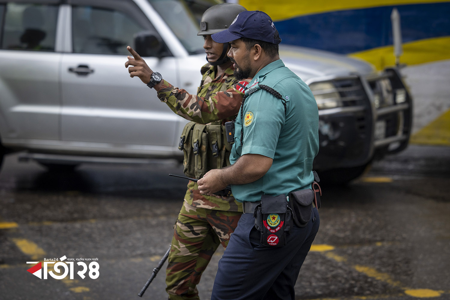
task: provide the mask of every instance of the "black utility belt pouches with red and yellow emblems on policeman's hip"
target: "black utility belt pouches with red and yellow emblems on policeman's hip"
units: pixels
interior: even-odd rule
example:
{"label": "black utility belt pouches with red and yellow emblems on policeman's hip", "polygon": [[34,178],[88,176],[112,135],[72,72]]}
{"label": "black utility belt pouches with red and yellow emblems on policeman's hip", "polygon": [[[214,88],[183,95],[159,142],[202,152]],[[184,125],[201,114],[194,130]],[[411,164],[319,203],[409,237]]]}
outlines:
{"label": "black utility belt pouches with red and yellow emblems on policeman's hip", "polygon": [[311,220],[313,206],[320,207],[320,187],[307,188],[289,193],[288,197],[262,195],[261,201],[244,202],[243,212],[253,211],[255,228],[261,232],[261,245],[284,246],[286,234],[293,224],[305,227]]}

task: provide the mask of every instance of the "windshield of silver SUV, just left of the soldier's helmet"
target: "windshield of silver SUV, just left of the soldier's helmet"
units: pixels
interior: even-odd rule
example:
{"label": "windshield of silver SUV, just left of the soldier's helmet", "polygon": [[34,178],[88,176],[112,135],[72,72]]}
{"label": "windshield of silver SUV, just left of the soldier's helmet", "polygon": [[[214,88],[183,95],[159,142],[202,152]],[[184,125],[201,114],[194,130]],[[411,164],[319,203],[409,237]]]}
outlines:
{"label": "windshield of silver SUV, just left of the soldier's helmet", "polygon": [[[189,54],[203,53],[203,37],[198,36],[199,23],[189,2],[183,0],[148,0],[164,19]],[[207,7],[204,8],[206,10]]]}

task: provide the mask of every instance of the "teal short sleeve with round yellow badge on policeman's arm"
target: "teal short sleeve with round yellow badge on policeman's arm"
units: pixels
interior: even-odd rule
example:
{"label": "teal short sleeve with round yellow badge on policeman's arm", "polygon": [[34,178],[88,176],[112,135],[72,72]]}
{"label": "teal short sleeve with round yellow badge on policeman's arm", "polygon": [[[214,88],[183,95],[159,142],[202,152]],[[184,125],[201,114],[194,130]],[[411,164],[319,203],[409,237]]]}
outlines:
{"label": "teal short sleeve with round yellow badge on policeman's arm", "polygon": [[243,109],[241,155],[253,153],[274,158],[284,122],[282,100],[264,90],[259,90],[249,96],[245,100]]}

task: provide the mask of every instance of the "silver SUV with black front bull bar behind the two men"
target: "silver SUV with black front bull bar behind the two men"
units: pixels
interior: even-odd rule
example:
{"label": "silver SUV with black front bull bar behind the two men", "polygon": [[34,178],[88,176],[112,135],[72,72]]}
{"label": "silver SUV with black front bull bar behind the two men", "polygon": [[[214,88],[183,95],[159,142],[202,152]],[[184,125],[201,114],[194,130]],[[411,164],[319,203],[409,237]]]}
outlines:
{"label": "silver SUV with black front bull bar behind the two men", "polygon": [[[22,158],[68,167],[181,160],[186,121],[129,77],[126,46],[195,93],[206,63],[195,16],[206,8],[184,0],[0,0],[1,157],[26,150]],[[362,61],[293,46],[280,55],[320,109],[316,170],[348,181],[374,157],[406,147],[412,104],[396,69],[377,73]]]}

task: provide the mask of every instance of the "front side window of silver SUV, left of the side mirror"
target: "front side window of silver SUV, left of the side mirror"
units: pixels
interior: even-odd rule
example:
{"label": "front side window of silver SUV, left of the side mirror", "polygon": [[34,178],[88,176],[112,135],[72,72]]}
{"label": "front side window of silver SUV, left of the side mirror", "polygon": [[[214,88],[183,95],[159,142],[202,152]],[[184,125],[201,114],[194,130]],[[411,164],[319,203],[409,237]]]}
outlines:
{"label": "front side window of silver SUV, left of the side mirror", "polygon": [[127,45],[134,45],[135,34],[148,31],[125,13],[91,6],[72,9],[73,52],[128,55]]}

